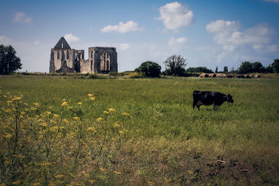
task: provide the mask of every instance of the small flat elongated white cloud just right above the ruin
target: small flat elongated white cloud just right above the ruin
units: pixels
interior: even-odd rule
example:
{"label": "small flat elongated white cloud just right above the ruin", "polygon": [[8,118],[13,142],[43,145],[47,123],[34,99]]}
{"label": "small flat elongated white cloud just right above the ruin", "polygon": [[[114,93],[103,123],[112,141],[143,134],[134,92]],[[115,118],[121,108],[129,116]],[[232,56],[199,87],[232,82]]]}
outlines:
{"label": "small flat elongated white cloud just right above the ruin", "polygon": [[126,33],[130,31],[143,31],[144,27],[139,27],[136,22],[133,22],[133,20],[128,21],[126,23],[119,22],[119,24],[116,25],[107,25],[103,29],[101,29],[101,32],[119,32],[119,33]]}

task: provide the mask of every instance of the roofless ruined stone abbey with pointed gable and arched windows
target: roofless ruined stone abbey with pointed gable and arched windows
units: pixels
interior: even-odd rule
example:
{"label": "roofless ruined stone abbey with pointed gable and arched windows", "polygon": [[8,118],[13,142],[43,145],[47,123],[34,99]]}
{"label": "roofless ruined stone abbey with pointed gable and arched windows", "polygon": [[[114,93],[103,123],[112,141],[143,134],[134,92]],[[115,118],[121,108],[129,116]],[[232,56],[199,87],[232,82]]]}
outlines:
{"label": "roofless ruined stone abbey with pointed gable and arched windows", "polygon": [[117,72],[117,52],[114,47],[89,47],[88,59],[84,49],[71,49],[61,38],[50,53],[50,72],[103,73]]}

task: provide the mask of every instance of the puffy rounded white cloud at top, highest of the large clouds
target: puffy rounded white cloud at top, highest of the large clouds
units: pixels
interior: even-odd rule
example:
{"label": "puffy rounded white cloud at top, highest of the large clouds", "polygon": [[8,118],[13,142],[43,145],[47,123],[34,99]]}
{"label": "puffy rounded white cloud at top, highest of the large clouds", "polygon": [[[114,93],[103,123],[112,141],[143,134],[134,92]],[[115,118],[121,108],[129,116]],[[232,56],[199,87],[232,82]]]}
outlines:
{"label": "puffy rounded white cloud at top, highest of the large clouds", "polygon": [[181,26],[189,26],[194,20],[194,13],[179,2],[167,3],[159,8],[160,17],[166,29],[178,31]]}

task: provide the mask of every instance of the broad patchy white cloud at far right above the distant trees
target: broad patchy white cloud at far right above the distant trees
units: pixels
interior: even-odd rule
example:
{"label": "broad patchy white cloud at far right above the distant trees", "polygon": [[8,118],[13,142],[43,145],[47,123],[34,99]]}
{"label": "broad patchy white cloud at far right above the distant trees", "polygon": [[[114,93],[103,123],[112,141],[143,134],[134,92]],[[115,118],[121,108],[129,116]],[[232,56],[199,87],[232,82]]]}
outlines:
{"label": "broad patchy white cloud at far right above the distant trees", "polygon": [[[259,51],[260,45],[267,47],[271,42],[276,31],[264,24],[258,24],[245,31],[239,31],[239,22],[230,22],[225,20],[217,20],[206,25],[206,31],[215,33],[214,42],[218,45],[223,45],[223,49],[234,51],[237,47],[251,46]],[[265,52],[271,52],[276,47],[265,49]]]}

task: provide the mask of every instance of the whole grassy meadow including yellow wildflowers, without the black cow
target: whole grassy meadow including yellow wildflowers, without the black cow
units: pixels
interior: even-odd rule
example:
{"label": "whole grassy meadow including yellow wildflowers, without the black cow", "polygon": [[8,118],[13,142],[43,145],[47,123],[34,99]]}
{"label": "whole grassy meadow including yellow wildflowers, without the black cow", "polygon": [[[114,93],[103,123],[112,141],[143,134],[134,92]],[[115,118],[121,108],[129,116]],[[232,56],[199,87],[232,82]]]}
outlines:
{"label": "whole grassy meadow including yellow wildflowers, without the black cow", "polygon": [[[0,185],[277,185],[279,80],[0,77]],[[192,107],[192,93],[233,104]]]}

